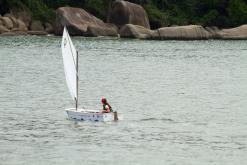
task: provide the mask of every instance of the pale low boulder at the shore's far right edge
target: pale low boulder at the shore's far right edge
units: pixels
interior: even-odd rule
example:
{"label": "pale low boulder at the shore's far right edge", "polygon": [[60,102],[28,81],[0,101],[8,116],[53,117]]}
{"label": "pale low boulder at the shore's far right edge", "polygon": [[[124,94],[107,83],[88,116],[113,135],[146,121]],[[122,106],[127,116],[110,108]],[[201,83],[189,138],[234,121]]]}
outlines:
{"label": "pale low boulder at the shore's far right edge", "polygon": [[217,32],[220,39],[247,39],[247,24]]}

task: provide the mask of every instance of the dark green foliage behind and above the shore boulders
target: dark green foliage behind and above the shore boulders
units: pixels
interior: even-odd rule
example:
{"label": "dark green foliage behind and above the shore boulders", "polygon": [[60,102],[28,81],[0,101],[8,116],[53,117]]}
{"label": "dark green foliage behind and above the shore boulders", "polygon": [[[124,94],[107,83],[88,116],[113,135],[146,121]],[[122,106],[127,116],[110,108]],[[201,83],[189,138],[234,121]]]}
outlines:
{"label": "dark green foliage behind and above the shore boulders", "polygon": [[[83,8],[107,18],[115,0],[5,0],[11,7],[27,8],[34,19],[49,21],[61,6]],[[169,25],[238,26],[247,23],[246,0],[128,0],[142,5],[152,28]],[[3,12],[2,12],[3,13]]]}

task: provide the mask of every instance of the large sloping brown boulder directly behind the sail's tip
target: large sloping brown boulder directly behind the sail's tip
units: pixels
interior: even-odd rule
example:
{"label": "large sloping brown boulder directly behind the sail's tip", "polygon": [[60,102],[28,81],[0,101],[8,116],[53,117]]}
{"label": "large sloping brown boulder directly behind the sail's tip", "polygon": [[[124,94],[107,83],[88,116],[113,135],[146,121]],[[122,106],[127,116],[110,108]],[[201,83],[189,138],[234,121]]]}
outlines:
{"label": "large sloping brown boulder directly behind the sail's tip", "polygon": [[83,9],[60,7],[56,10],[55,34],[61,35],[64,26],[67,27],[70,35],[85,35],[88,26],[98,29],[107,28],[102,20]]}

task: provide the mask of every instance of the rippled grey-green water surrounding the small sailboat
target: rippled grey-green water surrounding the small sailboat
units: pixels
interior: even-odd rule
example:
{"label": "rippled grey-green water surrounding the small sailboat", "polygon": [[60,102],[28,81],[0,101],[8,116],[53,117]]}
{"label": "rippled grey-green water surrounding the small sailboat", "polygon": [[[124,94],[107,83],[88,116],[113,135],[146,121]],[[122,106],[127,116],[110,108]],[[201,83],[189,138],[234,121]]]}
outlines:
{"label": "rippled grey-green water surrounding the small sailboat", "polygon": [[80,107],[122,120],[67,119],[61,37],[1,37],[1,165],[246,164],[246,41],[72,40]]}

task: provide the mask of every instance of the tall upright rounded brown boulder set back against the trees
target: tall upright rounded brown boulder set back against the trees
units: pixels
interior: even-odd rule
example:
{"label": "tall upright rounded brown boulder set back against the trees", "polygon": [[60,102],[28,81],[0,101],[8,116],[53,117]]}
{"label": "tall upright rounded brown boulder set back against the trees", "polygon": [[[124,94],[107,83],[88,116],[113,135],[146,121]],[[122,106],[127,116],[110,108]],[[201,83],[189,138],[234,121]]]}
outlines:
{"label": "tall upright rounded brown boulder set back against the trees", "polygon": [[119,28],[125,24],[134,24],[150,29],[148,15],[143,7],[127,1],[113,3],[108,22]]}

